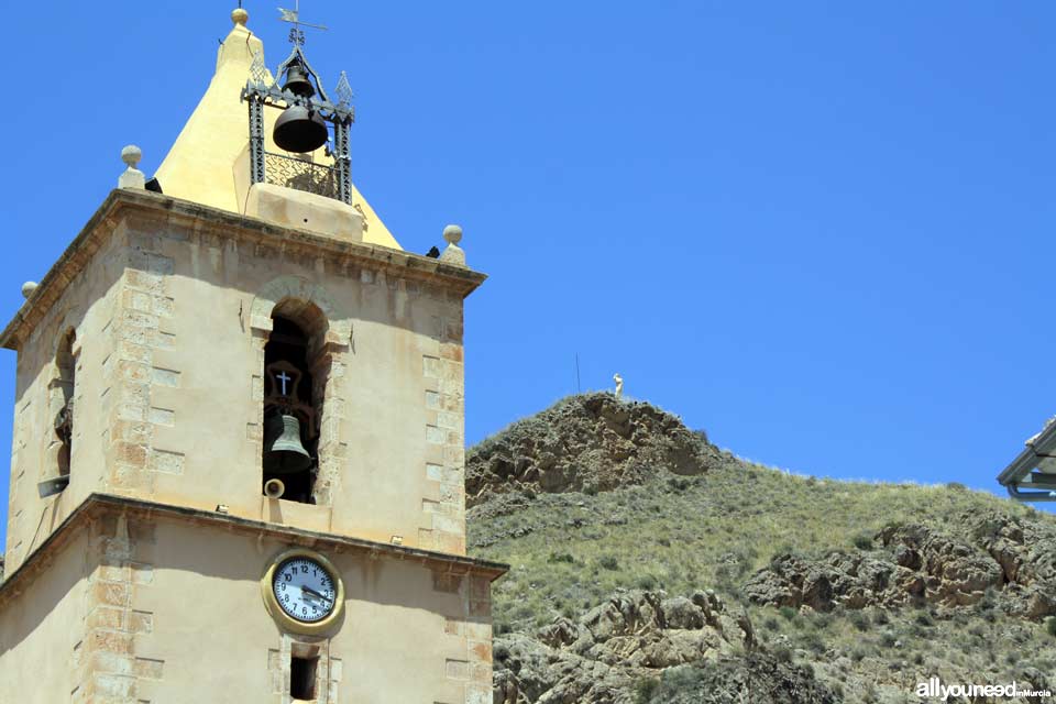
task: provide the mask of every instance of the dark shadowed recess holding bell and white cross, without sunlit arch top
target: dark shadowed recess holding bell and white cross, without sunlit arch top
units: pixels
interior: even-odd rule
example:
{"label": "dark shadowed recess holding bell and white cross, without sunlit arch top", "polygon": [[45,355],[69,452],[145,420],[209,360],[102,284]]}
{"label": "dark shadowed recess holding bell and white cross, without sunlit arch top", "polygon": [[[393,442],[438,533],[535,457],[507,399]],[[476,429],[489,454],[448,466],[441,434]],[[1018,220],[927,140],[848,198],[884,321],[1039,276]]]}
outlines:
{"label": "dark shadowed recess holding bell and white cross, without sunlit arch top", "polygon": [[293,320],[273,317],[264,346],[264,451],[261,492],[270,480],[285,486],[282,498],[314,504],[319,444],[310,339]]}

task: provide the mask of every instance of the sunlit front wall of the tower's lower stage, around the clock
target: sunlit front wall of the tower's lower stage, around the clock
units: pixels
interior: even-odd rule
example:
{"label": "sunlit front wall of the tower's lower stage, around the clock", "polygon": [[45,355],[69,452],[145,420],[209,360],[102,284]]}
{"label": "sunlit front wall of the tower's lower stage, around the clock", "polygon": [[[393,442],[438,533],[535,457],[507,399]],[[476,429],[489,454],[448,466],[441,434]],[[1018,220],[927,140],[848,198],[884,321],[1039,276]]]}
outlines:
{"label": "sunlit front wall of the tower's lower stage, around the clock", "polygon": [[88,635],[101,644],[88,695],[288,704],[290,656],[307,649],[319,658],[320,703],[491,702],[486,578],[316,544],[344,581],[344,615],[328,634],[297,636],[268,615],[260,583],[289,543],[176,519],[120,521],[101,522],[110,566],[92,607],[110,616]]}

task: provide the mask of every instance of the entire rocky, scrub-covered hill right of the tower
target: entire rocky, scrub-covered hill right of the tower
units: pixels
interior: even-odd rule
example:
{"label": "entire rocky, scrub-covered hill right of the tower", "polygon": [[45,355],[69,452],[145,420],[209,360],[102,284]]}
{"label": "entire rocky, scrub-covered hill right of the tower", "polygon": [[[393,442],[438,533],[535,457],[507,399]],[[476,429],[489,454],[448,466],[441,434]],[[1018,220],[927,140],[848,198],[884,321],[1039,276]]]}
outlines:
{"label": "entire rocky, scrub-covered hill right of the tower", "polygon": [[607,394],[485,440],[466,475],[471,552],[512,565],[496,704],[919,702],[932,676],[1056,693],[1048,514],[787,474]]}

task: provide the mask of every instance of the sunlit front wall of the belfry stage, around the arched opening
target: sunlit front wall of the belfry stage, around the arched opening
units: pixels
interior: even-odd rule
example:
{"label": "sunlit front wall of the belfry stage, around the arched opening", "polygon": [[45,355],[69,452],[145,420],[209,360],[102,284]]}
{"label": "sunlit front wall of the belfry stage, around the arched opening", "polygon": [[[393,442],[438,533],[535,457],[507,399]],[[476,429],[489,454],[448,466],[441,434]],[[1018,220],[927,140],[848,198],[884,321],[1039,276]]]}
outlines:
{"label": "sunlit front wall of the belfry stage, around the arched opening", "polygon": [[[127,224],[108,490],[464,554],[461,295],[279,238]],[[261,495],[263,350],[280,304],[326,318],[317,505]]]}

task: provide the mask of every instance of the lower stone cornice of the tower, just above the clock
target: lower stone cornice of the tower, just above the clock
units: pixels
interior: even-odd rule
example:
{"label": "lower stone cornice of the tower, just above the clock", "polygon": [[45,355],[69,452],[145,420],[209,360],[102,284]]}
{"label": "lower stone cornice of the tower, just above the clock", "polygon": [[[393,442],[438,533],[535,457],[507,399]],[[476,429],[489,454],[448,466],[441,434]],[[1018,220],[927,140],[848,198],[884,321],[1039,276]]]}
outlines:
{"label": "lower stone cornice of the tower, just above the clock", "polygon": [[7,575],[3,583],[0,583],[0,608],[3,608],[11,598],[21,594],[41,572],[46,570],[54,556],[62,550],[70,538],[79,535],[80,531],[87,529],[88,525],[99,520],[102,516],[116,514],[136,520],[182,520],[248,537],[268,536],[284,540],[292,546],[316,550],[329,550],[345,554],[359,553],[375,559],[419,562],[437,572],[450,574],[472,574],[496,580],[509,570],[509,565],[501,562],[317,532],[185,506],[173,506],[111,494],[91,494],[36,550],[26,557],[18,570]]}

